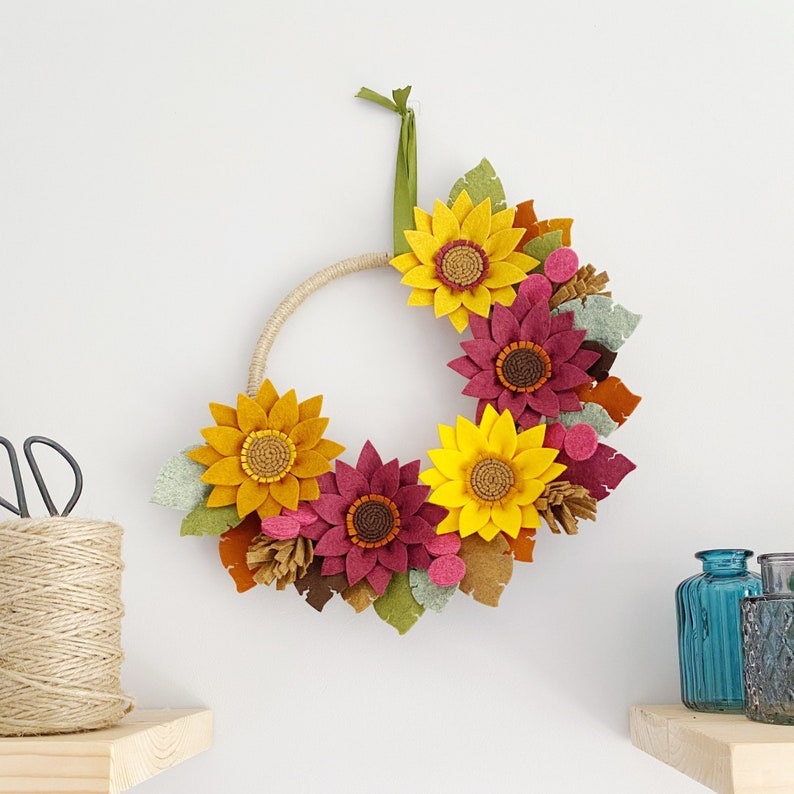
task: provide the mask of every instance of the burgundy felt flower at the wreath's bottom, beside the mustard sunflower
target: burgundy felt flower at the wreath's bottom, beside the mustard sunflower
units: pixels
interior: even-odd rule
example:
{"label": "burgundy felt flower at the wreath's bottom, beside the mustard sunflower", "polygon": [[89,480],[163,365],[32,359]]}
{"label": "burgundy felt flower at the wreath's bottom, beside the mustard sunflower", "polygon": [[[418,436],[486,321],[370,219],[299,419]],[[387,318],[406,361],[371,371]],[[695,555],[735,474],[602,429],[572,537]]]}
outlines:
{"label": "burgundy felt flower at the wreath's bottom, beside the mustard sunflower", "polygon": [[418,477],[418,460],[384,463],[367,441],[355,468],[337,461],[335,472],[318,478],[320,498],[311,503],[317,521],[300,533],[324,557],[323,576],[345,573],[351,586],[366,578],[382,595],[393,573],[430,567],[438,556],[435,527],[447,510],[425,501],[430,488]]}

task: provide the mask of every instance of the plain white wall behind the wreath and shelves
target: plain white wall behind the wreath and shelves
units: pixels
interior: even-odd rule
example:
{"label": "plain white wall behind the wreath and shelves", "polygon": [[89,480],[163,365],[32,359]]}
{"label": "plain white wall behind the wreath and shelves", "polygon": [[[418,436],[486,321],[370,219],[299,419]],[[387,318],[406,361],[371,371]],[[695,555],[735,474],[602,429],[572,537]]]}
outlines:
{"label": "plain white wall behind the wreath and shelves", "polygon": [[[212,750],[141,794],[704,790],[630,745],[627,711],[678,699],[696,550],[794,545],[792,9],[0,3],[0,432],[59,439],[78,514],[124,525],[139,706],[215,713]],[[644,400],[596,524],[541,532],[498,609],[459,595],[399,637],[341,601],[238,595],[216,542],[148,499],[280,299],[391,247],[398,119],[353,95],[406,83],[420,204],[488,156],[510,202],[573,216],[644,315],[613,369]],[[326,395],[350,461],[366,438],[424,455],[474,408],[457,335],[398,281],[336,282],[271,358],[280,390]]]}

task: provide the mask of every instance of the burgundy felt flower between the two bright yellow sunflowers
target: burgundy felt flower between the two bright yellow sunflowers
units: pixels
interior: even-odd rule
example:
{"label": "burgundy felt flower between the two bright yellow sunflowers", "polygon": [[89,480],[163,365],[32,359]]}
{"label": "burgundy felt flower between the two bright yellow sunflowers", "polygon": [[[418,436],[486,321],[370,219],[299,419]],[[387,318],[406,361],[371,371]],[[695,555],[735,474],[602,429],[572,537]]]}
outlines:
{"label": "burgundy felt flower between the two bright yellow sunflowers", "polygon": [[582,410],[574,388],[593,380],[586,370],[599,353],[582,349],[586,332],[573,321],[573,312],[552,317],[547,300],[524,290],[510,307],[494,304],[490,319],[472,315],[474,338],[449,366],[469,379],[463,393],[479,399],[477,422],[486,405],[509,410],[523,429]]}

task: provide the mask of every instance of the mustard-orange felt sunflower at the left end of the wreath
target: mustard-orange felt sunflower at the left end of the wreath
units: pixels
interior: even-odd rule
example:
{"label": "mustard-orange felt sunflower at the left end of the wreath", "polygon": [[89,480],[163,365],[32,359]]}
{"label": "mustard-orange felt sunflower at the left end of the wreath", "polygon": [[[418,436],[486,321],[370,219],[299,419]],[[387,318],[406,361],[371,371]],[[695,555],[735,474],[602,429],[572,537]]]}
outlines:
{"label": "mustard-orange felt sunflower at the left end of the wreath", "polygon": [[207,466],[203,482],[214,485],[207,507],[237,505],[240,518],[296,510],[299,500],[317,499],[317,477],[344,451],[323,438],[328,419],[322,396],[299,403],[295,390],[279,397],[266,380],[255,399],[240,394],[237,408],[210,403],[216,427],[201,431],[207,445],[187,453]]}

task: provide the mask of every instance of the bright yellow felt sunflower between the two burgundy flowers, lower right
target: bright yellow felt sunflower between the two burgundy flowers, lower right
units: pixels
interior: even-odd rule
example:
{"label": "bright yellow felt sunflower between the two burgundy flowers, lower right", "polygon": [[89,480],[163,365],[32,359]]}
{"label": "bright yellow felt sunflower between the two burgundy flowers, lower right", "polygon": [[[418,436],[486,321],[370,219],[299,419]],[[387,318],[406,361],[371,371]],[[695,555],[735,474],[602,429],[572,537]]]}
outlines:
{"label": "bright yellow felt sunflower between the two burgundy flowers, lower right", "polygon": [[434,468],[420,475],[433,489],[427,501],[449,510],[438,534],[476,532],[490,541],[540,526],[534,502],[565,471],[554,462],[558,450],[543,446],[545,425],[517,433],[510,411],[488,405],[479,426],[459,416],[438,431],[443,448],[428,452]]}

